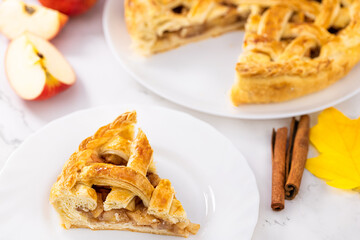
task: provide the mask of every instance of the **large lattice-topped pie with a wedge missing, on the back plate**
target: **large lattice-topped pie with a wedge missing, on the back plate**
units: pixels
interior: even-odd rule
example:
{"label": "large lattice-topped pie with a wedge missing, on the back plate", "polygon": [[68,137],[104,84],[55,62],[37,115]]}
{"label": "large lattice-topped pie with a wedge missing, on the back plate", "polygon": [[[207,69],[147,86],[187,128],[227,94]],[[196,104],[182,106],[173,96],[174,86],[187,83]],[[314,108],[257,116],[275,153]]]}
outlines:
{"label": "large lattice-topped pie with a wedge missing, on the back plate", "polygon": [[319,91],[360,60],[359,0],[126,0],[125,20],[144,55],[244,28],[234,105]]}

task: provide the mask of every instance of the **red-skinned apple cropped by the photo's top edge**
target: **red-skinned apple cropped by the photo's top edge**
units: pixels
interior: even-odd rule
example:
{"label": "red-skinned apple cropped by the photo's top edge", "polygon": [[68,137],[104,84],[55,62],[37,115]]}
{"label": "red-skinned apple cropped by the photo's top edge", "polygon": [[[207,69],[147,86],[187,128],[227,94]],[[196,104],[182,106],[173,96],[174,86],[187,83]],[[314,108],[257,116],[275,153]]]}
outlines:
{"label": "red-skinned apple cropped by the photo's top edge", "polygon": [[66,15],[76,16],[89,10],[97,0],[39,0],[39,2]]}

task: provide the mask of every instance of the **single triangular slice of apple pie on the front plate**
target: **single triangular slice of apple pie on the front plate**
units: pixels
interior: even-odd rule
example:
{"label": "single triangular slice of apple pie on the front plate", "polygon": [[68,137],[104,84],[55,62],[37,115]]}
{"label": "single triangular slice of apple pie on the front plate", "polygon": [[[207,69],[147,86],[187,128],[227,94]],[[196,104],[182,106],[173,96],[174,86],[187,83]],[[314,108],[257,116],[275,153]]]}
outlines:
{"label": "single triangular slice of apple pie on the front plate", "polygon": [[85,139],[51,188],[65,228],[114,229],[188,237],[191,223],[168,179],[161,179],[136,112],[126,112]]}

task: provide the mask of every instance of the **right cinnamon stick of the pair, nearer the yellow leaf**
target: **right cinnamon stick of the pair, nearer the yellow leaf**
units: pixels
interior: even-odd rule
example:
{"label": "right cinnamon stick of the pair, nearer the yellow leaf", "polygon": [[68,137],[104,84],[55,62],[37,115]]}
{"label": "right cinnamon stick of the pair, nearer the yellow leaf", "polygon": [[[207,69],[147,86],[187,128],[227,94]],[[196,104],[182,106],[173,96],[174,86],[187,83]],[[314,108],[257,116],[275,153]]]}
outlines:
{"label": "right cinnamon stick of the pair, nearer the yellow leaf", "polygon": [[290,144],[287,156],[287,178],[285,197],[294,199],[299,192],[302,175],[309,150],[310,118],[308,115],[300,117],[300,121],[293,118],[290,132]]}

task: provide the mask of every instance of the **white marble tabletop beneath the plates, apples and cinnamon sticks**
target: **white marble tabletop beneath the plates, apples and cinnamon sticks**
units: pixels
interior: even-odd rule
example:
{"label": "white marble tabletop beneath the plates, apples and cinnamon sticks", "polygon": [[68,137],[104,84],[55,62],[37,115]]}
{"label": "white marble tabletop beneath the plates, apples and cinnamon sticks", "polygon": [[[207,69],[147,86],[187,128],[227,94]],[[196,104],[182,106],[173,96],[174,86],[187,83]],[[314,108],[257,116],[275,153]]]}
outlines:
{"label": "white marble tabletop beneath the plates, apples and cinnamon sticks", "polygon": [[[104,1],[100,1],[87,14],[72,18],[52,41],[77,74],[77,83],[66,92],[47,101],[23,101],[9,86],[3,60],[0,61],[0,169],[24,139],[56,118],[100,105],[152,103],[187,112],[210,123],[244,154],[254,171],[261,198],[254,240],[359,239],[360,195],[331,188],[306,170],[296,199],[286,201],[282,212],[270,209],[271,130],[289,125],[290,119],[254,121],[215,117],[180,107],[149,92],[120,67],[106,45],[101,22],[103,5]],[[7,44],[8,40],[0,36],[0,59],[4,59]],[[357,95],[335,107],[356,118],[360,116],[359,102]],[[317,113],[311,115],[312,124],[316,123],[316,116]],[[310,155],[314,154],[312,149]]]}

